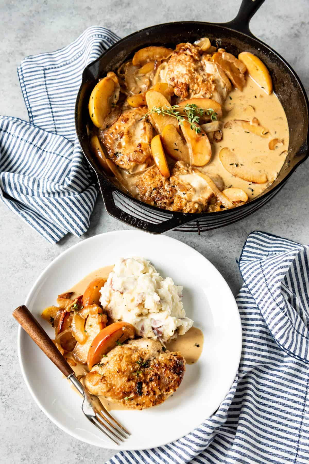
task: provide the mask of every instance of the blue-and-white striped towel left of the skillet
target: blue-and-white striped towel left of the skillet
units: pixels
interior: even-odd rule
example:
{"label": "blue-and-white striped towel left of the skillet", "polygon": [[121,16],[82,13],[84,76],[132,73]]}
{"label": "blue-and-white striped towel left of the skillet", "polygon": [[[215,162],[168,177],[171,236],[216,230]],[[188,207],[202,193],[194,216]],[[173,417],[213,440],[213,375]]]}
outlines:
{"label": "blue-and-white striped towel left of the skillet", "polygon": [[30,123],[0,116],[0,198],[51,243],[89,227],[97,187],[76,137],[75,100],[85,66],[117,40],[94,26],[25,58],[18,74]]}

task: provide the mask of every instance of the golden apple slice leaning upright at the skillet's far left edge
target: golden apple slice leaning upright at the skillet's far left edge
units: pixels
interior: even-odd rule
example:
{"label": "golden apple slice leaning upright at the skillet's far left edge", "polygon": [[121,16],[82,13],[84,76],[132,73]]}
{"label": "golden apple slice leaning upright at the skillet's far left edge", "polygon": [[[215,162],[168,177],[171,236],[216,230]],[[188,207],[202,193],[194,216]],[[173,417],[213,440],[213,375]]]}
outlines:
{"label": "golden apple slice leaning upright at the skillet's far left edge", "polygon": [[116,84],[111,77],[101,79],[92,90],[88,110],[91,121],[96,127],[104,127],[105,120],[112,110],[112,104],[117,103],[118,97],[115,95]]}

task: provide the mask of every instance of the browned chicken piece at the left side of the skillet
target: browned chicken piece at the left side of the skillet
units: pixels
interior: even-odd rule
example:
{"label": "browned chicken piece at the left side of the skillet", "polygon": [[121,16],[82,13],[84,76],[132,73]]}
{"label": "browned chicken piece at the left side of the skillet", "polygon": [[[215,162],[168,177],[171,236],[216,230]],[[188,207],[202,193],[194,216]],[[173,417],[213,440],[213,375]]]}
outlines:
{"label": "browned chicken piece at the left side of the skillet", "polygon": [[125,111],[114,124],[100,134],[108,158],[130,172],[143,163],[146,163],[146,168],[147,162],[151,160],[152,127],[142,119],[145,113],[145,108]]}

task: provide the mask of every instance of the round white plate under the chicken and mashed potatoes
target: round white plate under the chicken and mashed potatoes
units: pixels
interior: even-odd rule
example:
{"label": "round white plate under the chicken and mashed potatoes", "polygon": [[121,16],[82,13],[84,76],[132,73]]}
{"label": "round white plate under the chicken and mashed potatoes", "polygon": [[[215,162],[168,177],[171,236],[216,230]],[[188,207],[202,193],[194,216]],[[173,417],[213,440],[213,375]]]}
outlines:
{"label": "round white plate under the chicken and mashed potatoes", "polygon": [[187,316],[202,329],[199,361],[187,366],[183,382],[165,403],[143,411],[113,411],[132,435],[119,447],[83,416],[81,398],[52,362],[19,328],[18,352],[25,382],[38,406],[63,431],[90,445],[139,450],[161,446],[191,432],[220,405],[236,375],[241,354],[239,311],[226,281],[214,266],[188,245],[145,232],[108,232],[83,240],[56,258],[38,277],[25,301],[50,336],[54,330],[40,318],[56,296],[89,272],[116,257],[142,256],[164,277],[183,285]]}

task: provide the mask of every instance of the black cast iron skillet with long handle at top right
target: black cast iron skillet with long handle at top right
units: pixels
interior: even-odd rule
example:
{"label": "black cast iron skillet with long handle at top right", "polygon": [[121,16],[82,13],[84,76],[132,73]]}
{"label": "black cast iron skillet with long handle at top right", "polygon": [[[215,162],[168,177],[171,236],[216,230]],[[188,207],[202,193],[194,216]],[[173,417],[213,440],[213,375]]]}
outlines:
{"label": "black cast iron skillet with long handle at top right", "polygon": [[[236,18],[227,23],[184,21],[147,27],[121,39],[85,68],[76,100],[76,132],[84,155],[97,175],[109,214],[134,227],[156,234],[179,227],[180,230],[196,230],[196,224],[198,232],[222,227],[248,216],[263,206],[308,157],[309,103],[303,85],[290,65],[268,45],[256,39],[249,29],[250,19],[264,1],[242,0]],[[108,71],[116,70],[121,63],[132,58],[138,49],[149,45],[174,48],[180,42],[194,42],[201,37],[208,37],[212,44],[223,47],[236,56],[239,52],[248,51],[261,58],[271,73],[274,91],[289,122],[290,146],[287,159],[275,182],[251,202],[215,213],[167,212],[156,206],[145,205],[121,192],[101,170],[91,153],[88,141],[88,99],[98,78],[104,77]],[[194,227],[192,221],[195,221]],[[190,222],[191,225],[188,224]]]}

